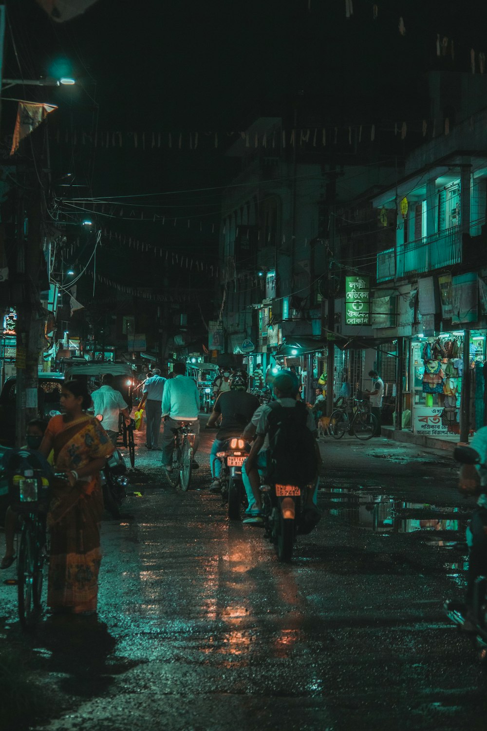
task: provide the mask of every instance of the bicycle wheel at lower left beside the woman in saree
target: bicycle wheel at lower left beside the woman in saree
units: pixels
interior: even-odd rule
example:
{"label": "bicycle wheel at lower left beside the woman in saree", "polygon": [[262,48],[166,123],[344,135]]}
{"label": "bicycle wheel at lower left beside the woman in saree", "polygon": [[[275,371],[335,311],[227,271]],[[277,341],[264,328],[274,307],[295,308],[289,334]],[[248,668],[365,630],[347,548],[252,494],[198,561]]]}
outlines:
{"label": "bicycle wheel at lower left beside the woman in saree", "polygon": [[[41,547],[34,526],[26,521],[20,534],[18,552],[18,616],[23,629],[33,626],[42,591]],[[39,572],[41,576],[39,577]]]}

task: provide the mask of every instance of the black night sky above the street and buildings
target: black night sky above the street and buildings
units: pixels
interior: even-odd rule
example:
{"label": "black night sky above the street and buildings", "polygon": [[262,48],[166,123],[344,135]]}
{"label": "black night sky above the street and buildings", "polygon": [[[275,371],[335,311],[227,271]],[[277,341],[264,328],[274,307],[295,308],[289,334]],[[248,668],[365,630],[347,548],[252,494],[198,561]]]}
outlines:
{"label": "black night sky above the street and buildings", "polygon": [[[7,30],[4,75],[18,77],[19,62],[25,77],[48,75],[63,58],[72,64],[77,87],[28,90],[32,100],[59,105],[53,127],[89,130],[96,99],[100,131],[221,133],[218,151],[201,145],[197,153],[142,155],[98,148],[89,180],[93,195],[221,185],[235,171],[223,157],[224,133],[242,129],[253,113],[285,111],[304,91],[329,121],[421,118],[418,80],[437,67],[437,33],[453,37],[456,70],[469,70],[470,48],[487,50],[487,7],[478,0],[377,0],[377,20],[372,7],[372,1],[353,0],[347,19],[345,0],[310,0],[310,7],[308,0],[99,0],[60,25],[34,0],[8,0],[18,59]],[[4,134],[15,111],[10,105],[2,107]],[[85,183],[91,152],[61,145],[53,156],[60,173],[74,172]],[[217,213],[218,193],[191,197],[187,211],[177,210]],[[187,200],[181,194],[170,203]],[[198,202],[204,207],[195,208]],[[164,239],[168,246],[211,254],[215,243],[144,225],[141,238]],[[142,273],[143,262],[137,260],[137,268]]]}

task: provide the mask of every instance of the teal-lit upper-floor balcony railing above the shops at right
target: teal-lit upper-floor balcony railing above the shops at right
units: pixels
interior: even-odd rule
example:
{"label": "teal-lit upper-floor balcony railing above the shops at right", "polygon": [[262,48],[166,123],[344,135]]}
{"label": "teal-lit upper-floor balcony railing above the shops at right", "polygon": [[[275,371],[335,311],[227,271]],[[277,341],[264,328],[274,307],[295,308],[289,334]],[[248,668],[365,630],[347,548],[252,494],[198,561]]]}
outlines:
{"label": "teal-lit upper-floor balcony railing above the shops at right", "polygon": [[401,278],[410,273],[424,273],[461,262],[460,227],[438,231],[431,236],[397,246],[377,254],[377,281]]}

